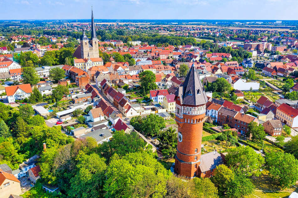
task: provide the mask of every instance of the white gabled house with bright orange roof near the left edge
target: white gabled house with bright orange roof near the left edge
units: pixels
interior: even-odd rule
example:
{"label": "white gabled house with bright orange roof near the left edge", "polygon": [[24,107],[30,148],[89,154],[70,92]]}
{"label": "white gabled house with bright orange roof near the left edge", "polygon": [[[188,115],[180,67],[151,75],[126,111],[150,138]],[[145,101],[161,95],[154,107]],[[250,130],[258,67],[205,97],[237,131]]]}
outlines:
{"label": "white gabled house with bright orange roof near the left edge", "polygon": [[24,100],[29,98],[32,89],[30,84],[13,85],[5,87],[8,103],[15,102],[16,100]]}

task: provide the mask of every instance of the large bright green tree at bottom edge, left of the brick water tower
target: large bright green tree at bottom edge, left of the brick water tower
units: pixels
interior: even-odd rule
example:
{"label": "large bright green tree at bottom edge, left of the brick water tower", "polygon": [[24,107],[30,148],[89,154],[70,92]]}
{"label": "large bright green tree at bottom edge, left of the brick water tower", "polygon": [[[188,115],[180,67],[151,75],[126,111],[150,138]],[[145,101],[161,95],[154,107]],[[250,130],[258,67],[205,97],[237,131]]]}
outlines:
{"label": "large bright green tree at bottom edge, left of the brick water tower", "polygon": [[105,197],[163,197],[170,172],[151,154],[137,152],[113,156],[106,177]]}

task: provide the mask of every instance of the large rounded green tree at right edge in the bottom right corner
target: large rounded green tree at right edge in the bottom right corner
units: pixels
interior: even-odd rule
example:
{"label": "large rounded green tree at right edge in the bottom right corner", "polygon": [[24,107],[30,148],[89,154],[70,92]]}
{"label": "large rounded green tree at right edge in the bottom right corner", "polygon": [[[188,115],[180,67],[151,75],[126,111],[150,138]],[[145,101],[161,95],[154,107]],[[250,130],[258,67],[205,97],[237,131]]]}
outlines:
{"label": "large rounded green tree at right edge in the bottom right corner", "polygon": [[295,185],[298,180],[298,160],[290,153],[271,152],[266,155],[266,167],[282,187]]}

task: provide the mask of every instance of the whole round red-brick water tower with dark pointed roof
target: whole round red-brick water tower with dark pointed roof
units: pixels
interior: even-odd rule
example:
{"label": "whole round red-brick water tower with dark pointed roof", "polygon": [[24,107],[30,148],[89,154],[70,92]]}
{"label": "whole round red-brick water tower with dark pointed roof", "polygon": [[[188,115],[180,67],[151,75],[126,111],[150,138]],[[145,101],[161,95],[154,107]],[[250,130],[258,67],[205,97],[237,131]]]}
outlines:
{"label": "whole round red-brick water tower with dark pointed roof", "polygon": [[174,170],[179,175],[193,178],[199,175],[203,119],[208,101],[194,64],[175,95],[178,146]]}

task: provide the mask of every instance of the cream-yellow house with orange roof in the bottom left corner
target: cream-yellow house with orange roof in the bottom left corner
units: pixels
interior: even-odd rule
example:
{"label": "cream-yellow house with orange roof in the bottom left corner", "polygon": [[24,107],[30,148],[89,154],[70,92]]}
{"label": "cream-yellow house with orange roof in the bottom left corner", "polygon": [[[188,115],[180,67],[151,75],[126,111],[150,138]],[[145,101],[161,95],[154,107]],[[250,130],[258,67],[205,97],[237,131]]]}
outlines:
{"label": "cream-yellow house with orange roof in the bottom left corner", "polygon": [[21,194],[20,181],[12,174],[0,169],[0,197],[8,198],[11,194]]}

